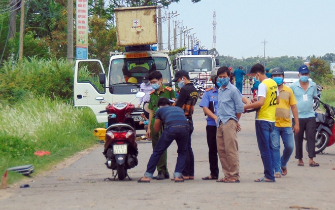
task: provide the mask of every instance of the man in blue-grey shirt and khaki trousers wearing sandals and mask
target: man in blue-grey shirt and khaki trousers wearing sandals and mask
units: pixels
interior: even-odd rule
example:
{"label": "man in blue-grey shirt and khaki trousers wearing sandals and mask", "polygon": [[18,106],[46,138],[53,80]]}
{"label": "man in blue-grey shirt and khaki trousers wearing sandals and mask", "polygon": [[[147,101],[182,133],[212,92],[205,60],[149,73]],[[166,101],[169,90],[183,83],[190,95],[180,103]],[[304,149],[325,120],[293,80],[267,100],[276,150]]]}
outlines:
{"label": "man in blue-grey shirt and khaki trousers wearing sandals and mask", "polygon": [[242,115],[243,102],[239,90],[230,84],[230,72],[226,66],[218,69],[219,109],[217,112],[217,150],[222,165],[224,178],[217,182],[239,183],[240,161],[237,132],[240,131],[239,119]]}

